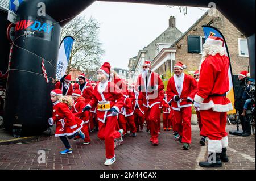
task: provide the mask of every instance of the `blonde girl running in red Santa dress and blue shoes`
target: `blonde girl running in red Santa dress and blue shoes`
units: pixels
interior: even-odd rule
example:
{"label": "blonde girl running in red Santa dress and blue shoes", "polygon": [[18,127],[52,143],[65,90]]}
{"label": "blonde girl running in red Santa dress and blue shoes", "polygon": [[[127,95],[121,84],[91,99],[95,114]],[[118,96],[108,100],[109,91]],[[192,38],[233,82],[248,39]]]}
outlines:
{"label": "blonde girl running in red Santa dress and blue shoes", "polygon": [[63,97],[60,89],[51,91],[51,101],[53,103],[53,113],[48,122],[50,125],[56,123],[55,137],[60,137],[66,147],[60,154],[72,153],[73,150],[69,145],[68,139],[72,139],[75,136],[80,136],[82,139],[85,138],[84,133],[81,132],[83,121],[75,117],[69,109],[73,105],[72,97]]}

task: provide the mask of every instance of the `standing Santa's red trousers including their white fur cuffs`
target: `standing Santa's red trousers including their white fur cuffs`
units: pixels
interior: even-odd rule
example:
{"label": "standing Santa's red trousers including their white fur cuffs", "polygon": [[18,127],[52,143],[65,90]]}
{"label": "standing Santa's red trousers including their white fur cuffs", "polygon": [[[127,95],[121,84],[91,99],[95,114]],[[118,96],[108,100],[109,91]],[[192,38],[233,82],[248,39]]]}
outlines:
{"label": "standing Santa's red trousers including their white fur cuffs", "polygon": [[207,136],[209,153],[221,153],[222,148],[228,146],[228,133],[226,133],[226,112],[213,110],[200,111],[203,127],[201,135]]}

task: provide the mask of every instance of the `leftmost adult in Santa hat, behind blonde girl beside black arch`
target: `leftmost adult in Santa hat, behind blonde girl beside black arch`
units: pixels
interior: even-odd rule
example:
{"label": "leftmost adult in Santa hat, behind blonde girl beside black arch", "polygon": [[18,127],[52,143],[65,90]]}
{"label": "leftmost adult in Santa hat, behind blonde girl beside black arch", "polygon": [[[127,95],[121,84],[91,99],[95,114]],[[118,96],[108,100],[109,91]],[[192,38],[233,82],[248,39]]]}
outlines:
{"label": "leftmost adult in Santa hat, behind blonde girl beside black arch", "polygon": [[56,83],[55,89],[60,89],[63,95],[72,95],[73,86],[71,84],[71,75],[64,75],[64,77]]}

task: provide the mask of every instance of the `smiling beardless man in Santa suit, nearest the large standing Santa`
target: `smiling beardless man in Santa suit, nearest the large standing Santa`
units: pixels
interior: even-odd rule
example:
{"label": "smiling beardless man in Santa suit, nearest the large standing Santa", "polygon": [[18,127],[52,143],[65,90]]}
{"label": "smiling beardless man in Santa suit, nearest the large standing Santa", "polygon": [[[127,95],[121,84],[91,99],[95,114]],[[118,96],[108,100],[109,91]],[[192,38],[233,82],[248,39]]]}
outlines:
{"label": "smiling beardless man in Santa suit, nearest the large standing Santa", "polygon": [[167,96],[168,100],[172,100],[174,129],[179,134],[179,142],[183,143],[184,150],[188,150],[191,144],[191,106],[196,94],[196,80],[191,75],[185,74],[183,68],[182,62],[177,62],[174,66],[175,74],[168,81]]}

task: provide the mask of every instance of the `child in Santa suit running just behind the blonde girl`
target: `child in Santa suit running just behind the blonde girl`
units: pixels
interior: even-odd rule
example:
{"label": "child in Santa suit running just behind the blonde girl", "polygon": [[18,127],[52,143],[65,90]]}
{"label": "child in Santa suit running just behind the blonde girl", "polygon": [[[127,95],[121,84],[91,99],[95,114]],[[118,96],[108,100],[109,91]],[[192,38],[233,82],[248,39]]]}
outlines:
{"label": "child in Santa suit running just behind the blonde girl", "polygon": [[[87,126],[87,123],[89,122],[89,116],[87,111],[82,112],[85,107],[85,99],[81,96],[81,91],[79,89],[73,92],[72,97],[74,99],[74,104],[71,111],[76,117],[79,117],[84,122],[81,131],[85,134],[84,144],[88,145],[90,144],[90,136]],[[79,139],[79,136],[74,138],[74,140],[77,139]]]}

